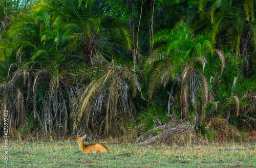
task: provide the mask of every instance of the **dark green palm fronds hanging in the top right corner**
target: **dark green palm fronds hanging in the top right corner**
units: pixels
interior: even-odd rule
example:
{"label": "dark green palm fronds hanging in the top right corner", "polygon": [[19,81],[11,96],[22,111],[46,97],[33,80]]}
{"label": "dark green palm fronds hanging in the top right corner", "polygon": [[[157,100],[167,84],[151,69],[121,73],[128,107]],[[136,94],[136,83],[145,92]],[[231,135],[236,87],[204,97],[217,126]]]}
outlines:
{"label": "dark green palm fronds hanging in the top right corner", "polygon": [[197,25],[207,27],[218,46],[228,43],[236,53],[237,60],[238,55],[248,55],[252,53],[251,48],[256,49],[256,5],[253,1],[201,0],[199,4],[202,19]]}

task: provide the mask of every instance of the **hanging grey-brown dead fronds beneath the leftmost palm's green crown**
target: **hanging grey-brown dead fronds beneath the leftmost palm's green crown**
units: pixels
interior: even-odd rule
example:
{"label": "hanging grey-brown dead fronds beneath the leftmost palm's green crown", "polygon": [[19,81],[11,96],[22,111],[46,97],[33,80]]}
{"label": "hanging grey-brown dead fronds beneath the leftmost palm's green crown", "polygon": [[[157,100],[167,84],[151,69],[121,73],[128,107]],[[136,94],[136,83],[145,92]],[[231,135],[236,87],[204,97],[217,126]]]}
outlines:
{"label": "hanging grey-brown dead fronds beneath the leftmost palm's green crown", "polygon": [[[30,78],[33,78],[33,82]],[[47,68],[33,72],[29,71],[28,68],[19,68],[10,73],[9,82],[2,85],[1,88],[0,111],[1,116],[4,115],[5,110],[9,111],[9,128],[12,127],[23,132],[28,122],[28,116],[32,115],[33,119],[31,120],[37,124],[29,131],[37,129],[43,136],[46,136],[56,129],[58,135],[61,134],[63,137],[67,132],[68,121],[68,107],[65,97],[69,94],[68,84],[63,82],[63,78],[66,78],[65,74],[59,77],[58,82],[54,77],[51,79],[51,73]],[[33,87],[30,87],[31,83]],[[41,83],[47,84],[41,85]],[[32,93],[33,96],[30,97],[29,93]],[[30,107],[33,107],[33,111],[30,110]],[[16,136],[10,135],[10,137],[15,138]]]}

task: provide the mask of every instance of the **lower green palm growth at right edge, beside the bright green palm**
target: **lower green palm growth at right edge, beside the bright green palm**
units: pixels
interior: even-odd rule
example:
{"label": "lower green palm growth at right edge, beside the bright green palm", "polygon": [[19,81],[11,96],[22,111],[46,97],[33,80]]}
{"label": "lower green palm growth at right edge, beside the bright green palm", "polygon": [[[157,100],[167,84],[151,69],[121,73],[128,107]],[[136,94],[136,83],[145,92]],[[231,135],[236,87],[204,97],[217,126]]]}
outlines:
{"label": "lower green palm growth at right edge, beside the bright green palm", "polygon": [[206,128],[220,129],[217,123],[231,123],[235,126],[246,123],[246,126],[250,126],[255,121],[252,108],[255,104],[256,82],[253,77],[248,78],[241,72],[246,59],[239,58],[237,63],[232,53],[226,52],[225,55],[227,63],[222,73],[218,68],[218,60],[212,62],[214,64],[207,69],[211,101],[206,108]]}

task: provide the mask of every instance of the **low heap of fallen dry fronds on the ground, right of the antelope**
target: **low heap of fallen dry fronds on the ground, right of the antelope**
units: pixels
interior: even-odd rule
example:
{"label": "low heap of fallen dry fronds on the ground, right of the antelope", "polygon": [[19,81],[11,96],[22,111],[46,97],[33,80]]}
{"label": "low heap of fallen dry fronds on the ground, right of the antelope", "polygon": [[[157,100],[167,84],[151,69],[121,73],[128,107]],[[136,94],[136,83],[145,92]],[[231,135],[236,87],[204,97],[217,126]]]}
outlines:
{"label": "low heap of fallen dry fronds on the ground, right of the antelope", "polygon": [[[153,135],[156,130],[160,131],[160,133]],[[164,125],[147,131],[135,143],[144,145],[189,145],[204,144],[206,142],[195,133],[195,126],[186,121],[172,119]]]}

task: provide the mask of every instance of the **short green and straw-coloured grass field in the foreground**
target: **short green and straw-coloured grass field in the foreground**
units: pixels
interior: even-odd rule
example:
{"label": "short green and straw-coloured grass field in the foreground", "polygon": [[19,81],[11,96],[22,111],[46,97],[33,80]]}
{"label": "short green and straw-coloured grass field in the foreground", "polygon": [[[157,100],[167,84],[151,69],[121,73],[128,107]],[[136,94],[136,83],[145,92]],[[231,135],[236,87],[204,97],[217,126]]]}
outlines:
{"label": "short green and straw-coloured grass field in the foreground", "polygon": [[[110,151],[108,154],[84,154],[73,142],[9,142],[7,165],[4,164],[4,144],[0,145],[0,167],[256,167],[255,149],[174,150],[105,144]],[[229,145],[242,146],[255,147],[255,143]]]}

